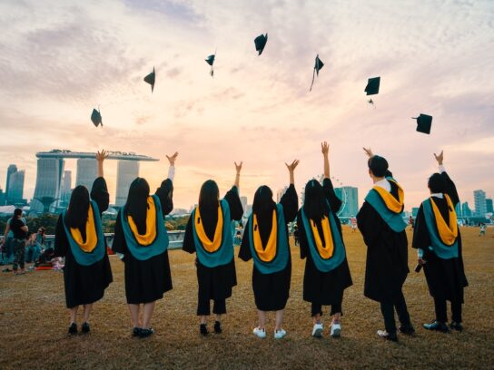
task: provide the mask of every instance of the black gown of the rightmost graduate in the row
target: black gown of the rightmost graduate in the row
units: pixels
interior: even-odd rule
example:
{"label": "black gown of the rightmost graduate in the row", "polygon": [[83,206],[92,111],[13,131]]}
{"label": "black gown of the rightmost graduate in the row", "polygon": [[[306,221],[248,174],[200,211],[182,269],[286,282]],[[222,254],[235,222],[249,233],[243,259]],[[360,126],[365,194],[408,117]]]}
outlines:
{"label": "black gown of the rightmost graduate in the row", "polygon": [[[456,207],[459,203],[458,192],[454,182],[446,172],[441,173],[447,184],[446,194],[450,196],[451,202]],[[450,221],[448,202],[445,199],[434,197],[434,201],[440,210],[440,214],[446,223]],[[424,251],[423,259],[427,261],[424,265],[424,273],[429,286],[430,296],[441,299],[463,303],[463,288],[469,285],[463,268],[463,257],[461,253],[461,236],[458,231],[458,258],[443,259],[438,257],[429,249],[430,235],[427,229],[423,206],[420,204],[415,229],[413,232],[412,248],[420,248]]]}

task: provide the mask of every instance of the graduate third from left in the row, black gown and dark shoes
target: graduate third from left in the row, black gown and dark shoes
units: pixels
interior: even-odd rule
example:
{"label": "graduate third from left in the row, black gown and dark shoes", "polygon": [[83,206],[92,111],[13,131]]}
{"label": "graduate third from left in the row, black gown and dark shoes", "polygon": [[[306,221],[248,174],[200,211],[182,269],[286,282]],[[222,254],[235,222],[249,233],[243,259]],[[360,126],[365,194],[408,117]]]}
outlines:
{"label": "graduate third from left in the row, black gown and dark shoes", "polygon": [[187,223],[183,250],[196,253],[197,283],[199,285],[197,316],[200,316],[200,333],[208,335],[207,316],[216,315],[214,332],[222,332],[222,315],[226,314],[226,298],[232,297],[237,285],[233,258],[232,221],[242,219],[243,209],[239,197],[242,162],[237,165],[232,189],[220,200],[218,185],[207,180],[201,187],[199,206]]}

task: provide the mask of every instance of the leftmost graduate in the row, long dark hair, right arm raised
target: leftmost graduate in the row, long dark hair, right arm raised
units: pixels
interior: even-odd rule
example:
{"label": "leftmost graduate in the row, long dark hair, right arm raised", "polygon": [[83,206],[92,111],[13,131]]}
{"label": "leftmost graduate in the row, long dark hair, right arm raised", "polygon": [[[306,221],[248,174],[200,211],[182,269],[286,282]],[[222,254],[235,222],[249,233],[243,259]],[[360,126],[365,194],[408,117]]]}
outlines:
{"label": "leftmost graduate in the row, long dark hair, right arm raised", "polygon": [[113,281],[101,223],[110,199],[103,177],[106,157],[105,151],[96,154],[98,178],[94,180],[91,199],[84,186],[75,187],[69,207],[58,218],[54,232],[55,256],[65,258],[65,303],[70,309],[70,334],[77,333],[79,306],[84,307],[82,331],[89,333],[91,308]]}

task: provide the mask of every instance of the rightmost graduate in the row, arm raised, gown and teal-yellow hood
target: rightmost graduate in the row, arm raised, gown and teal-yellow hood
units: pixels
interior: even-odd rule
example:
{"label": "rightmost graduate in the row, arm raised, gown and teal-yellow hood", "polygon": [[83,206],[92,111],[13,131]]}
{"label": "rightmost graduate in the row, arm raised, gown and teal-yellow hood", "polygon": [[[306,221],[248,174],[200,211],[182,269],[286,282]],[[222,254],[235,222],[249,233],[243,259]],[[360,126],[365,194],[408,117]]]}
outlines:
{"label": "rightmost graduate in the row, arm raised, gown and teal-yellow hood", "polygon": [[423,326],[428,330],[448,332],[446,301],[451,302],[450,327],[461,331],[463,288],[469,284],[463,268],[461,236],[455,207],[458,191],[442,165],[443,152],[434,154],[440,173],[430,176],[430,198],[420,204],[413,232],[412,248],[418,249],[430,296],[434,298],[436,319]]}

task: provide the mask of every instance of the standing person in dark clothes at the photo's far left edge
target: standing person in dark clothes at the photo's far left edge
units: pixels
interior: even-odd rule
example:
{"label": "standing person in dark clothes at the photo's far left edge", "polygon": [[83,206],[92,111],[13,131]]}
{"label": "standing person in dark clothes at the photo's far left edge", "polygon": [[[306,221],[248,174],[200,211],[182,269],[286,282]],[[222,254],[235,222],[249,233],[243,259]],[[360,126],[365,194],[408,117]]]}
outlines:
{"label": "standing person in dark clothes at the photo's far left edge", "polygon": [[[14,263],[12,269],[15,275],[25,274],[25,240],[27,238],[28,228],[22,216],[22,209],[14,210],[14,217],[7,222],[3,239],[3,247],[5,247],[5,241],[8,241],[7,237],[12,231],[11,243],[14,246]],[[20,268],[20,271],[17,271],[17,268]]]}

